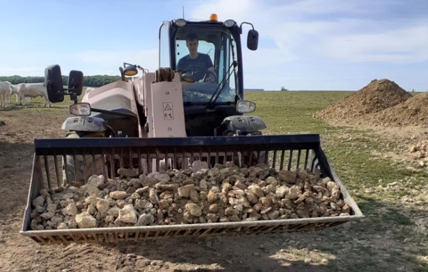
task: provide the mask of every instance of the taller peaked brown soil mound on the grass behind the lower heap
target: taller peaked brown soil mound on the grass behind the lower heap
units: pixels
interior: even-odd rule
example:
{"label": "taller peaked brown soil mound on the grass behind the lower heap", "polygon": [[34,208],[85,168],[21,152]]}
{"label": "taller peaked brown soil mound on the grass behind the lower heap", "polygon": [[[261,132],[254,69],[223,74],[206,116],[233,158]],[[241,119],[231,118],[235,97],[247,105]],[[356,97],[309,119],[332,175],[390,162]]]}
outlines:
{"label": "taller peaked brown soil mound on the grass behind the lower heap", "polygon": [[334,123],[356,123],[366,115],[403,103],[411,94],[388,79],[374,79],[368,85],[315,114]]}

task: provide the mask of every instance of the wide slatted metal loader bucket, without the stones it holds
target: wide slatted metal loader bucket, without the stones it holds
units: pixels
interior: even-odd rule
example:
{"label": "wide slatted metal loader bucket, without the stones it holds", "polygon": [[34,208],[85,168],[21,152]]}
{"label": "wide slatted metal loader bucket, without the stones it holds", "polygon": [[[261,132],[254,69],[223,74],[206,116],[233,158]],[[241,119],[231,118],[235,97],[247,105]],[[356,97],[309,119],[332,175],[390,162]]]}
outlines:
{"label": "wide slatted metal loader bucket, without the stones it holds", "polygon": [[[266,234],[302,232],[337,226],[364,217],[356,202],[347,193],[320,145],[320,137],[308,135],[264,135],[238,137],[183,137],[183,138],[81,138],[35,139],[34,163],[31,172],[27,207],[21,234],[40,245],[68,243],[118,243],[146,241],[161,237],[209,236],[217,234]],[[174,169],[189,167],[195,160],[247,165],[249,161],[268,164],[281,169],[318,169],[321,177],[330,177],[340,187],[340,198],[350,207],[347,216],[310,217],[259,221],[217,223],[188,223],[165,226],[132,226],[120,228],[74,228],[66,230],[31,230],[31,203],[41,189],[64,187],[62,161],[67,157],[95,161],[107,158],[101,169],[104,176],[117,176],[117,167],[132,167],[139,173],[162,171],[160,161],[171,161]],[[86,177],[97,169],[89,169]],[[98,171],[100,171],[98,169]],[[99,173],[96,173],[99,174]]]}

